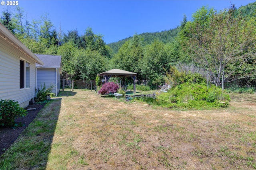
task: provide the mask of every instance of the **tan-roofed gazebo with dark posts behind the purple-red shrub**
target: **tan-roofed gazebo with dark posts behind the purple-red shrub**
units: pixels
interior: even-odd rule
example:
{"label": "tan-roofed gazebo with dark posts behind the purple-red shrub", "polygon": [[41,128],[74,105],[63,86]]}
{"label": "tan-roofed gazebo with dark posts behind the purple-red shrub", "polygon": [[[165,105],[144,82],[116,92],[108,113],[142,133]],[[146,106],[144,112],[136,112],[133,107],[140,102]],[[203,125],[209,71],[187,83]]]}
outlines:
{"label": "tan-roofed gazebo with dark posts behind the purple-red shrub", "polygon": [[126,77],[132,77],[132,79],[133,79],[133,91],[134,91],[134,93],[136,93],[135,80],[136,80],[137,73],[129,72],[129,71],[125,71],[125,70],[120,70],[120,69],[112,69],[112,70],[102,72],[98,75],[103,76],[104,79],[105,79],[105,82],[108,82],[110,77],[120,77],[122,79],[123,84],[124,84],[124,80],[125,80]]}

